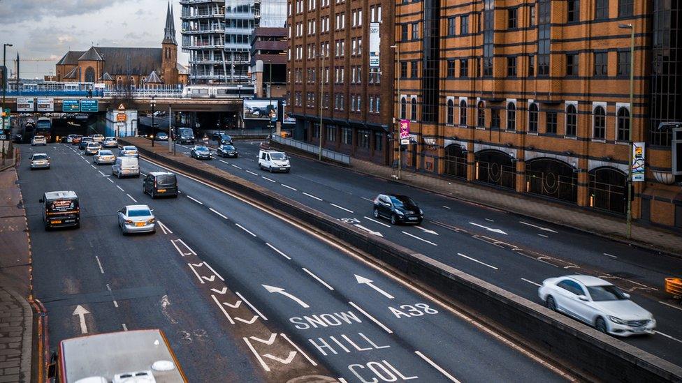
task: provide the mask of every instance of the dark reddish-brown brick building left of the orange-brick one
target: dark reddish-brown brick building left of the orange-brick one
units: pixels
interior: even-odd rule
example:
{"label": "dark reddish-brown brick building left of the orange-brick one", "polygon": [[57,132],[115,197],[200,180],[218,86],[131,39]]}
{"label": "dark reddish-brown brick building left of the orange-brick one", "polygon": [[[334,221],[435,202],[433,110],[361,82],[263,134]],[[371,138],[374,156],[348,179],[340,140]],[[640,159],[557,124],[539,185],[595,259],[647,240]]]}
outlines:
{"label": "dark reddish-brown brick building left of the orange-brick one", "polygon": [[[291,0],[287,14],[287,97],[295,137],[390,163],[393,6],[381,0]],[[379,68],[369,65],[370,22],[381,23]]]}

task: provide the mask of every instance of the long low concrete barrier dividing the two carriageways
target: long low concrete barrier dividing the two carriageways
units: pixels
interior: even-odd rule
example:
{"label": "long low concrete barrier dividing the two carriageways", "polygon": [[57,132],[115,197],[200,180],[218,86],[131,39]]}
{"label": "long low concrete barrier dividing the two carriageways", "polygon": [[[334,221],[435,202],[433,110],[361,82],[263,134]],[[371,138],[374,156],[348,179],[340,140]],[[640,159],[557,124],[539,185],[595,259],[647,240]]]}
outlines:
{"label": "long low concrete barrier dividing the two carriageways", "polygon": [[[282,211],[317,231],[349,243],[395,267],[409,278],[448,297],[470,315],[485,317],[505,334],[536,353],[558,361],[585,380],[605,382],[682,382],[682,367],[639,350],[611,336],[554,313],[500,287],[437,262],[421,253],[341,223],[324,213],[289,200],[271,190],[235,177],[198,160],[152,151],[144,142],[119,139],[138,146],[142,156],[205,181],[224,186],[272,209]],[[504,363],[504,361],[500,361]]]}

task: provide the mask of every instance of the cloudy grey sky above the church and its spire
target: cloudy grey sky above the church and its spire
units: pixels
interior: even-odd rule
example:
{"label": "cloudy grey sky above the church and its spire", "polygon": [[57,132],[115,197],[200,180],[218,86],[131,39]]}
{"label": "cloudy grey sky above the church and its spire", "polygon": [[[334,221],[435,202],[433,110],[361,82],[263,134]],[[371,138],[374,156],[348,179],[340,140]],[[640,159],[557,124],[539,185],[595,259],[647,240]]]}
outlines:
{"label": "cloudy grey sky above the church and its spire", "polygon": [[[178,0],[172,3],[175,39],[181,45],[181,7]],[[0,43],[14,45],[7,47],[9,74],[14,75],[17,52],[21,77],[42,78],[55,73],[68,50],[161,47],[167,9],[168,0],[0,0]],[[180,48],[177,61],[187,65],[189,55]]]}

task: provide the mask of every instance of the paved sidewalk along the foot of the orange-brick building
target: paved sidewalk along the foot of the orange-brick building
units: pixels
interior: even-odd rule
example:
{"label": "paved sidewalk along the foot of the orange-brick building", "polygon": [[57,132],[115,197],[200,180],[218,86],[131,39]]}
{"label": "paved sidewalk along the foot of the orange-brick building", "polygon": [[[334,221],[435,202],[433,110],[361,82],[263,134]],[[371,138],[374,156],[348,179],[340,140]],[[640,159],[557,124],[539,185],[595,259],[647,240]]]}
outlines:
{"label": "paved sidewalk along the foot of the orange-brick building", "polygon": [[625,237],[625,217],[611,217],[607,214],[588,211],[578,206],[567,206],[548,200],[540,200],[530,195],[487,188],[486,186],[465,183],[463,181],[447,180],[409,170],[403,171],[401,174],[402,179],[397,181],[393,177],[396,172],[393,168],[358,160],[357,158],[351,160],[351,169],[375,177],[392,179],[396,182],[455,197],[460,200],[490,206],[523,216],[530,216],[556,225],[589,232],[590,234],[682,256],[682,235],[662,228],[633,222],[632,239],[627,240]]}

